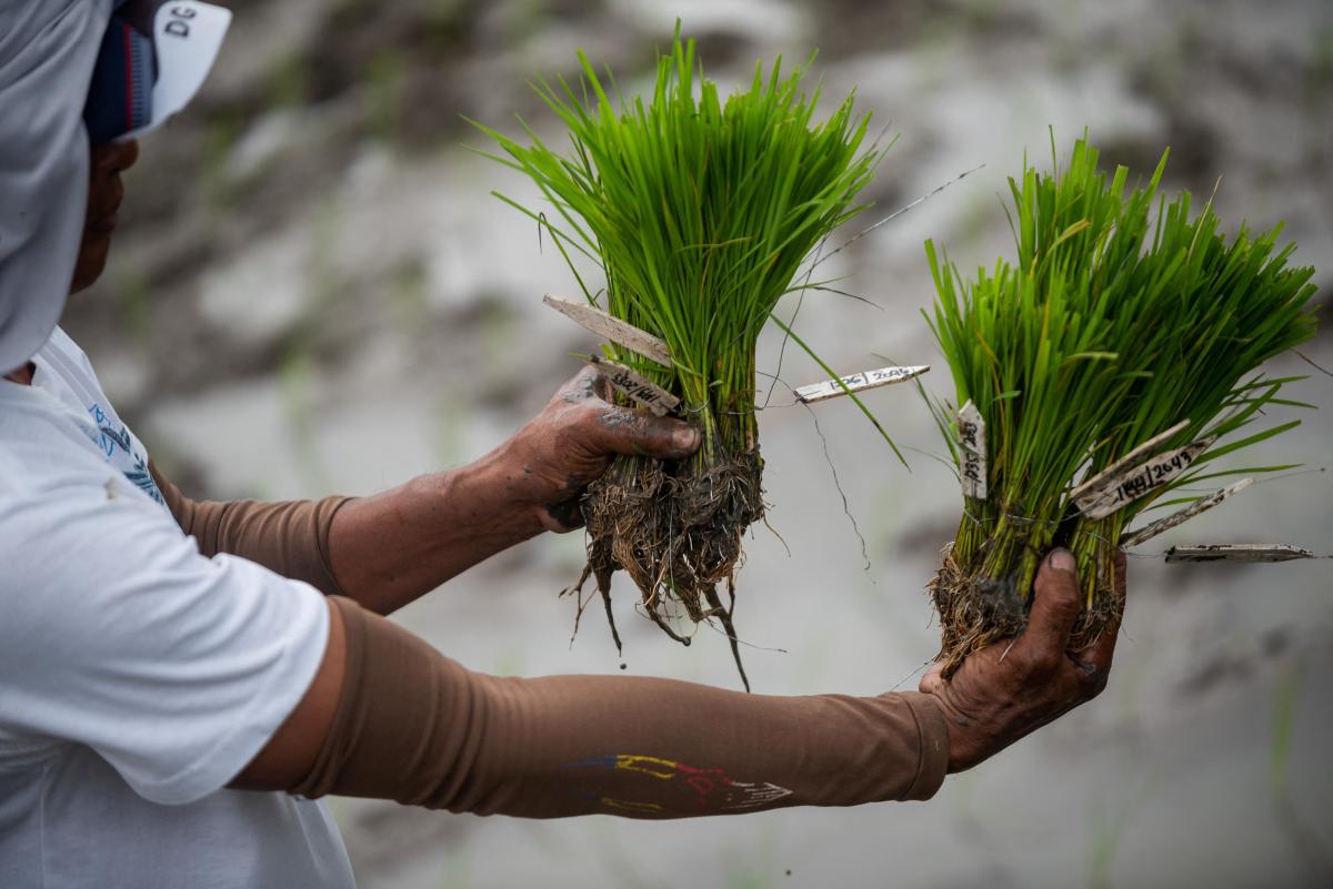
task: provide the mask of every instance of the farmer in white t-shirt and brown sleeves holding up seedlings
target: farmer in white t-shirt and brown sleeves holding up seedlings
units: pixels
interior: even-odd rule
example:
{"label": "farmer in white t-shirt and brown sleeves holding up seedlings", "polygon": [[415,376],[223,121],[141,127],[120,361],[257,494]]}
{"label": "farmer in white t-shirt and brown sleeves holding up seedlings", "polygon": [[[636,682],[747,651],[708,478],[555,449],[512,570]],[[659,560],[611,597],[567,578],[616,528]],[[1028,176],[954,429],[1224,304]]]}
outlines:
{"label": "farmer in white t-shirt and brown sleeves holding up seedlings", "polygon": [[132,137],[188,101],[227,23],[0,0],[0,885],[352,886],[328,793],[643,818],[926,800],[1102,688],[1114,628],[1065,653],[1065,551],[1020,637],[878,697],[497,679],[385,620],[577,526],[613,454],[697,447],[592,371],[477,462],[376,496],[187,499],[57,322],[103,270]]}

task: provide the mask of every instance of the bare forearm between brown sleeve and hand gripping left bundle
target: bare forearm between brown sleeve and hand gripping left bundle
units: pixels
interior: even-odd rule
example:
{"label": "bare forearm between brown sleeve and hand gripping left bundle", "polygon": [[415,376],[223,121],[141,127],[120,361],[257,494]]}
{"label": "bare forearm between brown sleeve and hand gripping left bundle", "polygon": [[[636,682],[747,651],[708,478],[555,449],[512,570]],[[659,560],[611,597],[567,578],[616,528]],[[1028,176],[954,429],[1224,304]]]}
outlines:
{"label": "bare forearm between brown sleeve and hand gripping left bundle", "polygon": [[343,506],[329,530],[344,595],[387,615],[543,524],[521,499],[523,467],[503,448],[468,466]]}

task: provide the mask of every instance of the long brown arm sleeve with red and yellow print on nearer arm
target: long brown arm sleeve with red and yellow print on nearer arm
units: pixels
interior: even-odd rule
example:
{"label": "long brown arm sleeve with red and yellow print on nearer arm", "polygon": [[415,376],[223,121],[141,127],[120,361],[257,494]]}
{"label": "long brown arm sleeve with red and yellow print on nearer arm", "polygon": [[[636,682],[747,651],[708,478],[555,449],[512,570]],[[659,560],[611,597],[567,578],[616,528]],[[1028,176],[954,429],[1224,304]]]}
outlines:
{"label": "long brown arm sleeve with red and yellow print on nearer arm", "polygon": [[917,693],[772,697],[627,676],[500,679],[331,599],[347,677],[291,792],[535,818],[729,814],[925,800],[944,716]]}

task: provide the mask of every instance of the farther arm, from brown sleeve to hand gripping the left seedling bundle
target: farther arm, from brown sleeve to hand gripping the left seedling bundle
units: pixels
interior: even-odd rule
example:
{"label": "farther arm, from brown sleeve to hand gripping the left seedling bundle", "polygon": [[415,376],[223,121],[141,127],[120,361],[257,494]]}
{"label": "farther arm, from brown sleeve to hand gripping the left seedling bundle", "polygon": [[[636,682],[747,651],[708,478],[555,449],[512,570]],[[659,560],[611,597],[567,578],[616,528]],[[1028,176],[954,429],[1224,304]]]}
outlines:
{"label": "farther arm, from brown sleeve to hand gripping the left seedling bundle", "polygon": [[686,423],[608,394],[588,367],[480,460],[361,499],[196,503],[151,468],[204,555],[239,555],[389,614],[543,530],[581,526],[579,498],[615,454],[682,459],[698,447]]}

